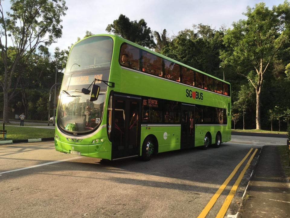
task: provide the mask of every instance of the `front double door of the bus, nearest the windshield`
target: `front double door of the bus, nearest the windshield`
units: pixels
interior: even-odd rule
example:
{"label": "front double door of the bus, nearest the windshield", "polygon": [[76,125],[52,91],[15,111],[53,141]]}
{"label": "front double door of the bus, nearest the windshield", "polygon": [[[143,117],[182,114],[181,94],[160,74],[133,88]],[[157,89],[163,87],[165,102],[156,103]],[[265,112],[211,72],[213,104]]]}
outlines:
{"label": "front double door of the bus, nearest the windshield", "polygon": [[139,156],[141,98],[115,95],[112,116],[112,160]]}

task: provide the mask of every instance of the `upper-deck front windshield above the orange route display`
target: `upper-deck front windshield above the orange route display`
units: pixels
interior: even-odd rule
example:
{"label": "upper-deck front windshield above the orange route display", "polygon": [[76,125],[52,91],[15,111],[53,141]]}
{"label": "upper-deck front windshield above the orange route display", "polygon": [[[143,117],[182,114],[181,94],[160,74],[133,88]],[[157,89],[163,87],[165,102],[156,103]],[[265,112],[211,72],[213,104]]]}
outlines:
{"label": "upper-deck front windshield above the orange route display", "polygon": [[111,66],[113,39],[108,36],[92,36],[72,47],[65,73],[73,71],[109,68]]}

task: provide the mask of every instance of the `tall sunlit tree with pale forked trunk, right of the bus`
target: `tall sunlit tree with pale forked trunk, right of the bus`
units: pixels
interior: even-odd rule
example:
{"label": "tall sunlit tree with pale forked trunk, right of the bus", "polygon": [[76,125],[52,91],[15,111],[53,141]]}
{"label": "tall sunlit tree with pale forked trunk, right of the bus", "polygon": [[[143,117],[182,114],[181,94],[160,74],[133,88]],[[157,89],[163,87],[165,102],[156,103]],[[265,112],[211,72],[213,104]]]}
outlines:
{"label": "tall sunlit tree with pale forked trunk, right of the bus", "polygon": [[[231,65],[235,71],[247,78],[256,92],[256,129],[261,129],[260,105],[264,74],[277,52],[289,40],[289,2],[273,6],[258,3],[247,7],[247,20],[233,23],[224,36],[226,51],[221,52],[223,65]],[[250,66],[250,67],[249,67]]]}

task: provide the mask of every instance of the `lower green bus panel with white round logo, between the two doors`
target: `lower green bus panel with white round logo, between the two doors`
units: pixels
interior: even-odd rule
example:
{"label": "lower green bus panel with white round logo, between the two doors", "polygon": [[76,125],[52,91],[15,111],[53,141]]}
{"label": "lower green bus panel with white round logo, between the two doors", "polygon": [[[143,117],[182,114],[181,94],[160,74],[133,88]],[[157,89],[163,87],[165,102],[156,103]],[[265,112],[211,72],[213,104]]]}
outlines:
{"label": "lower green bus panel with white round logo, between the two doors", "polygon": [[140,155],[142,144],[148,135],[154,135],[158,141],[158,153],[180,149],[180,126],[142,126]]}

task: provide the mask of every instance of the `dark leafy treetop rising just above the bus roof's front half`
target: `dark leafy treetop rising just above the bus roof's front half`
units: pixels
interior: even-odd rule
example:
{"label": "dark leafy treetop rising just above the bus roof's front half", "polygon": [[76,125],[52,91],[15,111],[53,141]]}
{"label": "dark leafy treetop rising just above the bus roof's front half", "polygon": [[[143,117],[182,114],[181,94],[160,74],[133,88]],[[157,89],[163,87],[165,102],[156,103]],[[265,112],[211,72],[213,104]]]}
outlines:
{"label": "dark leafy treetop rising just above the bus roof's front half", "polygon": [[144,47],[156,47],[152,31],[150,27],[147,27],[147,23],[144,19],[140,19],[138,22],[137,20],[130,21],[128,17],[121,14],[117,20],[114,20],[112,24],[107,26],[106,31],[109,33],[112,32]]}

